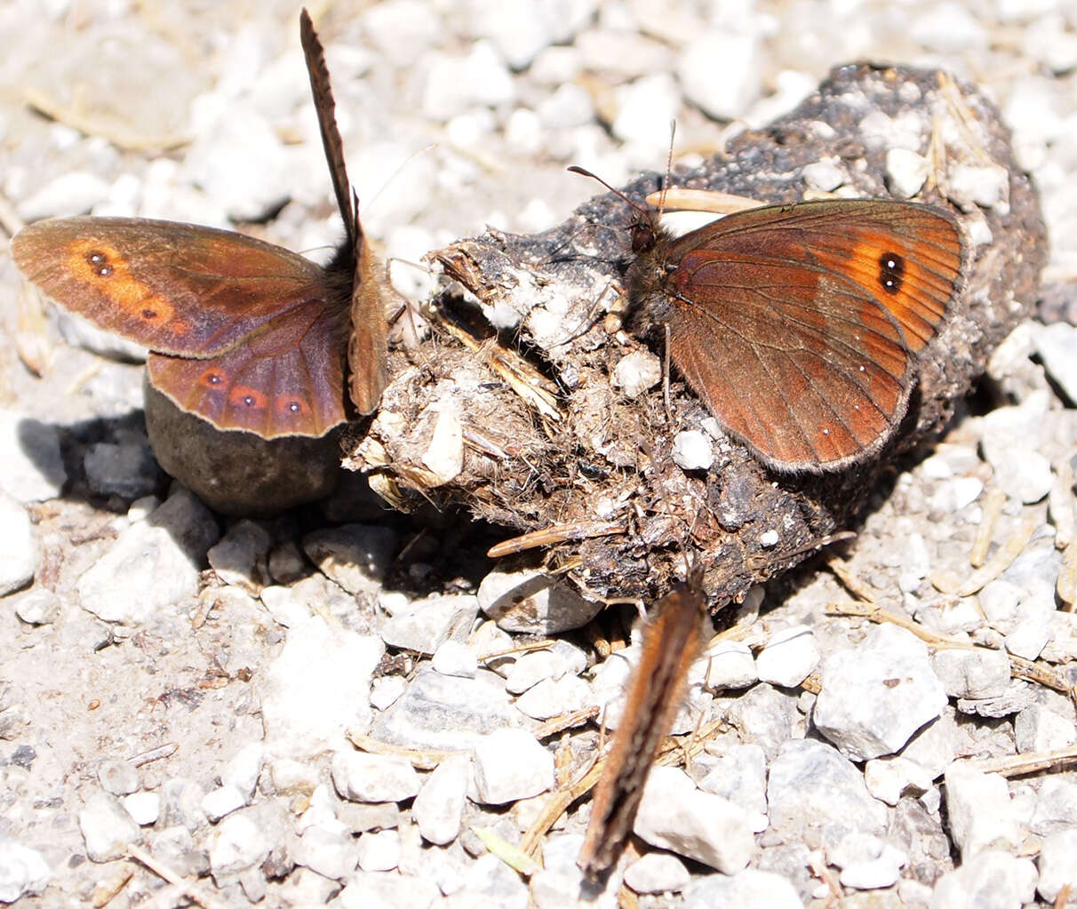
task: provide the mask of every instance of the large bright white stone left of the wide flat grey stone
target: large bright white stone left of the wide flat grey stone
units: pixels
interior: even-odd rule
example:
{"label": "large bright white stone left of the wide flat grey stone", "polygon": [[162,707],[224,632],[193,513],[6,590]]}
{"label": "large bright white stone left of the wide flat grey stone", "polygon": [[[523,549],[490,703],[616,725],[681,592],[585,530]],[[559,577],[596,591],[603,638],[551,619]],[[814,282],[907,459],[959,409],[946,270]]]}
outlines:
{"label": "large bright white stone left of the wide flat grey stone", "polygon": [[380,638],[328,628],[320,618],[291,629],[265,674],[262,722],[274,757],[306,757],[338,747],[350,727],[370,722],[370,675],[384,653]]}

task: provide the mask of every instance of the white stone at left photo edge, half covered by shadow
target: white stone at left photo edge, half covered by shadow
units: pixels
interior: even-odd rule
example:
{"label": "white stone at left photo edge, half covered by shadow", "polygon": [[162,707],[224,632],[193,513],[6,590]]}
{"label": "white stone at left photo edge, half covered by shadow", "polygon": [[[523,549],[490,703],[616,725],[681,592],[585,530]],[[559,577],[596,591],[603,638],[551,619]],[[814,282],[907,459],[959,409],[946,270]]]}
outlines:
{"label": "white stone at left photo edge, half covered by shadow", "polygon": [[55,499],[67,483],[56,426],[0,410],[0,489],[18,502]]}

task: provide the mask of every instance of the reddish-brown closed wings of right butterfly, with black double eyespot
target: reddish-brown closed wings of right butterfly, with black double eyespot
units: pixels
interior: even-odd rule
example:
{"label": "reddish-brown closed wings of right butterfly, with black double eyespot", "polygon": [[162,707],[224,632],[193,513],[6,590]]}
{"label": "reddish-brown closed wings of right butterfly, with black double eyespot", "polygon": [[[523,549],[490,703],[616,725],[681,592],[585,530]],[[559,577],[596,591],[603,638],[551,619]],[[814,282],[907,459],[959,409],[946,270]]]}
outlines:
{"label": "reddish-brown closed wings of right butterfly, with black double eyespot", "polygon": [[882,447],[962,267],[952,218],[885,201],[742,212],[666,255],[676,268],[657,306],[674,363],[728,430],[786,471],[838,470]]}

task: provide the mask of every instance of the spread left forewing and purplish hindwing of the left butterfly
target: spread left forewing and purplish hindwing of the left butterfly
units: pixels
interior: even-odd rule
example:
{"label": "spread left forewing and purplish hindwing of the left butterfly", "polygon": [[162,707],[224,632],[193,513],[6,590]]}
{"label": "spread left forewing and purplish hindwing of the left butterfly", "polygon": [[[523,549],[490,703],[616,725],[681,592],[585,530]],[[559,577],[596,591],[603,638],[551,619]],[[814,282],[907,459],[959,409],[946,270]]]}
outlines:
{"label": "spread left forewing and purplish hindwing of the left butterfly", "polygon": [[223,430],[319,436],[346,418],[342,300],[324,269],[227,230],[163,221],[43,221],[19,270],[66,309],[145,345],[159,391]]}

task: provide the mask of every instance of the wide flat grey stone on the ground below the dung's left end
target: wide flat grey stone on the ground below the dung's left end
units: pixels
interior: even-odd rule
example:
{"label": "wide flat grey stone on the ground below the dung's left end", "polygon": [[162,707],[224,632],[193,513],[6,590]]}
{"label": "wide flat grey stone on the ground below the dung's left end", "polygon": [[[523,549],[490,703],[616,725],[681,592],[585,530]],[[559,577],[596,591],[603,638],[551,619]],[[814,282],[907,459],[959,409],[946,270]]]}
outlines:
{"label": "wide flat grey stone on the ground below the dung's left end", "polygon": [[495,673],[479,670],[474,679],[452,679],[423,667],[404,695],[375,717],[372,735],[410,749],[466,751],[519,717]]}

